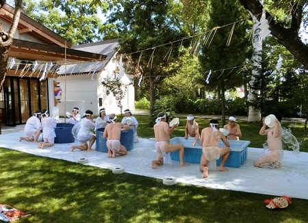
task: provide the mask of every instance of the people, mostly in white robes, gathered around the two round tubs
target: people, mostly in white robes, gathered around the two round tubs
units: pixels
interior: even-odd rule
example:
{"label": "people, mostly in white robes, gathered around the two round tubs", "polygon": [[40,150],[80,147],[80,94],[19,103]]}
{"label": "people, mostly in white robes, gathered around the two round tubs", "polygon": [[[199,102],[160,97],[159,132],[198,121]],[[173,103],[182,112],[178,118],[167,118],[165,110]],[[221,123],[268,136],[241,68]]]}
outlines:
{"label": "people, mostly in white robes, gathered around the two round tubs", "polygon": [[[94,122],[93,112],[87,110],[83,117],[79,114],[78,107],[73,108],[73,114],[69,115],[69,119],[66,124],[80,124],[79,131],[77,133],[77,140],[79,145],[71,146],[70,150],[73,152],[76,148],[79,150],[94,150],[92,145],[96,140],[96,135],[92,134],[91,129],[97,131],[97,129],[105,128],[103,137],[107,138],[108,156],[115,157],[116,153],[120,155],[126,155],[127,150],[120,144],[120,132],[123,130],[133,130],[133,141],[138,142],[137,127],[139,125],[138,120],[132,116],[129,109],[124,111],[125,117],[121,122],[117,122],[116,115],[111,114],[108,116],[105,109],[99,110],[99,117]],[[127,120],[130,122],[127,122]],[[79,123],[80,122],[80,123]],[[38,137],[42,133],[44,139],[43,142],[38,142],[39,148],[44,146],[53,146],[55,142],[55,127],[57,122],[53,117],[49,116],[47,109],[43,112],[36,111],[34,116],[31,116],[25,124],[26,137],[20,137],[19,141],[25,140],[27,142],[38,142]]]}

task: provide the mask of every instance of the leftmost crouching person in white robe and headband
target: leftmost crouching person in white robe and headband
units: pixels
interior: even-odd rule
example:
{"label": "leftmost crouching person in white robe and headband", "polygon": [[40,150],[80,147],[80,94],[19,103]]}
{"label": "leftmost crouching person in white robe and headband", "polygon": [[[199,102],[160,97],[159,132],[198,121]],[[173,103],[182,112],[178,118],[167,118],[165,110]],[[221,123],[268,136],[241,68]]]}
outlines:
{"label": "leftmost crouching person in white robe and headband", "polygon": [[40,136],[40,131],[43,129],[42,123],[40,123],[40,118],[42,117],[42,112],[40,110],[34,113],[25,124],[25,134],[27,137],[19,137],[19,142],[21,140],[26,140],[27,142],[38,142],[38,137]]}

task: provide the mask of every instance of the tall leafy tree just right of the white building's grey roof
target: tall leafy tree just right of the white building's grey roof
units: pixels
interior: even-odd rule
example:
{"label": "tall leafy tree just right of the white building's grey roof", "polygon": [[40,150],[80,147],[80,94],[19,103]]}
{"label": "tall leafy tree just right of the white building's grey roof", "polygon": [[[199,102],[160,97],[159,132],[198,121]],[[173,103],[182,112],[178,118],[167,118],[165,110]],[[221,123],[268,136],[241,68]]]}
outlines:
{"label": "tall leafy tree just right of the white building's grey roof", "polygon": [[[170,42],[187,36],[170,21],[170,2],[173,3],[168,0],[116,1],[108,19],[118,27],[120,52],[129,54],[131,67],[142,68],[143,79],[149,80],[151,107],[155,103],[155,85],[170,75],[166,68],[178,55],[180,42]],[[185,44],[189,44],[188,41]]]}

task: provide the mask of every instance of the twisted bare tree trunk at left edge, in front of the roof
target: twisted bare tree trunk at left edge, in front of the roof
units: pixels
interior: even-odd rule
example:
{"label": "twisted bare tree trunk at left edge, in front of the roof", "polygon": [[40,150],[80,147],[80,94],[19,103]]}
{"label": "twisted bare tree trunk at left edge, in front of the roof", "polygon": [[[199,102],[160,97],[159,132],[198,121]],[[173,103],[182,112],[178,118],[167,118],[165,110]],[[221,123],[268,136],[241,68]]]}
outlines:
{"label": "twisted bare tree trunk at left edge, in front of the roof", "polygon": [[[14,16],[9,31],[4,31],[0,23],[0,90],[5,80],[6,70],[8,66],[9,51],[12,46],[14,34],[17,30],[19,18],[21,16],[21,7],[23,0],[15,0]],[[0,1],[0,9],[5,4],[5,0]]]}

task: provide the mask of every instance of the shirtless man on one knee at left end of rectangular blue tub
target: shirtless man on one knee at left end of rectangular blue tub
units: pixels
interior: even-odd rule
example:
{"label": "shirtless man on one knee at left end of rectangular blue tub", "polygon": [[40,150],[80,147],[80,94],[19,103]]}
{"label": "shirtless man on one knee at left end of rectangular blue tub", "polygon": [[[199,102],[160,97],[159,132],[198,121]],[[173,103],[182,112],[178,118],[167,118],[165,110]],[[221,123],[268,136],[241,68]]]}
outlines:
{"label": "shirtless man on one knee at left end of rectangular blue tub", "polygon": [[182,144],[170,144],[170,134],[173,132],[177,124],[173,124],[170,128],[166,122],[166,114],[159,112],[154,124],[155,134],[155,148],[157,153],[157,160],[152,160],[151,165],[153,169],[156,169],[157,165],[163,165],[163,157],[167,156],[167,153],[179,150],[180,166],[188,166],[184,163],[184,146]]}

